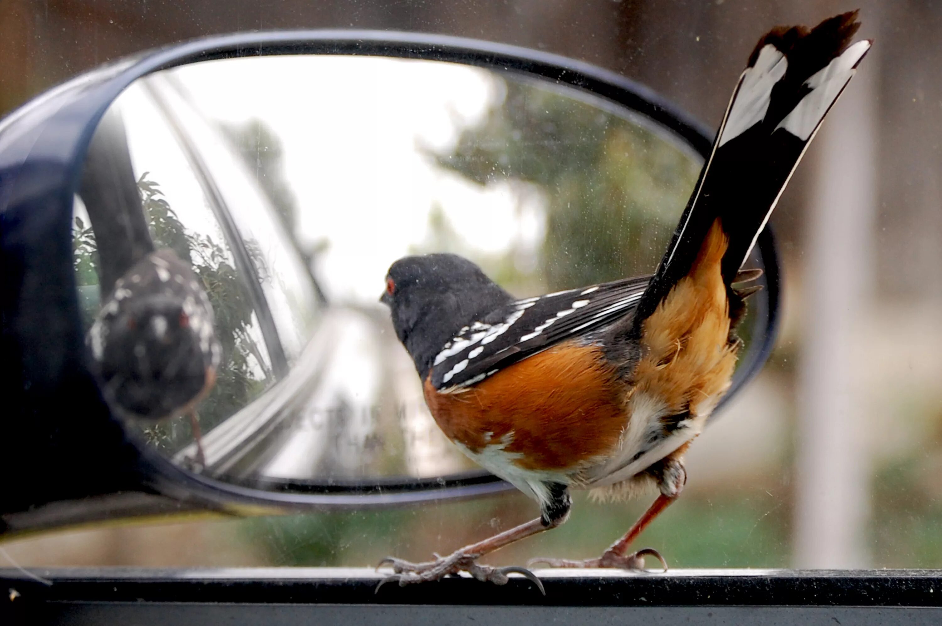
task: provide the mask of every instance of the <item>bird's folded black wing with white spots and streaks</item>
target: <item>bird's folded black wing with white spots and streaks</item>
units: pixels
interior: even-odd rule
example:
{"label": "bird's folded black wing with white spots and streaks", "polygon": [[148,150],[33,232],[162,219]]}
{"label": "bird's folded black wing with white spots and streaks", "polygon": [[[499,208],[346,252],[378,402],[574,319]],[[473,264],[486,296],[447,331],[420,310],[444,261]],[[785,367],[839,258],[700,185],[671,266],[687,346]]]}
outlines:
{"label": "bird's folded black wing with white spots and streaks", "polygon": [[437,390],[476,384],[497,371],[630,313],[650,276],[516,300],[461,329],[435,357]]}

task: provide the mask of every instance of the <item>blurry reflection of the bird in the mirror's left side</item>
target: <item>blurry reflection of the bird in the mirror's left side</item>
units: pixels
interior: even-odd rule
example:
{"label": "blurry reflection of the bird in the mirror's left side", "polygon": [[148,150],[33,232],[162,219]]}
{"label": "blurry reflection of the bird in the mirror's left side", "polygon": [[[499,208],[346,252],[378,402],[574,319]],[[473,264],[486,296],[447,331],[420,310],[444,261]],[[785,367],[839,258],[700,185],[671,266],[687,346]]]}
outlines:
{"label": "blurry reflection of the bird in the mirror's left side", "polygon": [[196,405],[212,390],[222,356],[203,283],[170,249],[151,252],[115,282],[88,344],[108,404],[122,416],[187,414],[205,466]]}

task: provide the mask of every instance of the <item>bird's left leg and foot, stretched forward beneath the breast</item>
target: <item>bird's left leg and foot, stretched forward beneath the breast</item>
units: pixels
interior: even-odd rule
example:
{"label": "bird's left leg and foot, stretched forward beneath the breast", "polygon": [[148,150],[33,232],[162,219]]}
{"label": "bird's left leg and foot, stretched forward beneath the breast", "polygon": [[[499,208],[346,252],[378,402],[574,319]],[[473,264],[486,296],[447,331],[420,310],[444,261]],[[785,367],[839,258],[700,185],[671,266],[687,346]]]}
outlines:
{"label": "bird's left leg and foot, stretched forward beneath the breast", "polygon": [[499,533],[491,538],[486,538],[478,543],[472,543],[448,554],[447,556],[438,556],[434,561],[425,563],[410,563],[392,556],[387,556],[380,561],[377,569],[383,565],[393,566],[395,572],[382,580],[380,587],[389,582],[397,581],[399,586],[406,586],[410,583],[423,583],[439,580],[449,574],[457,574],[460,571],[466,571],[479,581],[494,583],[495,585],[506,585],[508,581],[507,574],[519,573],[533,581],[545,595],[543,584],[533,575],[533,572],[524,568],[492,568],[487,565],[479,565],[477,560],[485,555],[495,552],[506,545],[528,538],[532,535],[542,533],[550,528],[556,528],[569,517],[569,509],[572,506],[572,500],[569,492],[564,485],[549,485],[550,500],[543,506],[543,515],[536,520],[530,520],[527,523],[520,524],[503,533]]}

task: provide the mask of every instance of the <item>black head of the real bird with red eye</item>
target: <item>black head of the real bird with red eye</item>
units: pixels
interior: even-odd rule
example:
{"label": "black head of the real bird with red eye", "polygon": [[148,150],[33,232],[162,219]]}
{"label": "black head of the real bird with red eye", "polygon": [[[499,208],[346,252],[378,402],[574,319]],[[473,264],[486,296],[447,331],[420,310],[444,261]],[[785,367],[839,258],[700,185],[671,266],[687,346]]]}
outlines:
{"label": "black head of the real bird with red eye", "polygon": [[380,300],[389,305],[396,336],[425,377],[435,355],[463,326],[482,321],[513,298],[467,259],[427,254],[394,263]]}

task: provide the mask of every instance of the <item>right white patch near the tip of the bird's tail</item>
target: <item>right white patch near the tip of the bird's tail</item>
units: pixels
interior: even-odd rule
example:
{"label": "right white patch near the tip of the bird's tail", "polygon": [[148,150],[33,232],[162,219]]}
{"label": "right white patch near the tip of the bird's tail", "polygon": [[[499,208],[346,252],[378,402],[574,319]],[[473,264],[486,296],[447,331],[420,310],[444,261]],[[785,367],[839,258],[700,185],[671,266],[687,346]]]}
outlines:
{"label": "right white patch near the tip of the bird's tail", "polygon": [[818,128],[831,104],[840,95],[841,90],[853,78],[854,68],[870,49],[869,41],[857,41],[836,57],[819,72],[812,74],[804,84],[811,88],[802,102],[791,110],[785,120],[779,122],[776,129],[784,128],[803,141]]}

